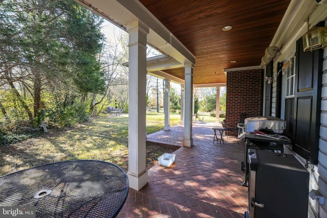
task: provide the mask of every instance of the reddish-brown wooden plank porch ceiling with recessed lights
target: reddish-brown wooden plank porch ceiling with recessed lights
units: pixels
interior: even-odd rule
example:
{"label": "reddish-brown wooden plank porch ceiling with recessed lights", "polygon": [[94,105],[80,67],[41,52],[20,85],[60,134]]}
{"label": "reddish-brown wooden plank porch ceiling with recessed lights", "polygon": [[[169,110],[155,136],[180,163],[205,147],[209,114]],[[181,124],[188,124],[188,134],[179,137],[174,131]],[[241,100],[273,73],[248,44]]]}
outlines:
{"label": "reddish-brown wooden plank porch ceiling with recessed lights", "polygon": [[[194,84],[206,84],[225,83],[223,69],[260,65],[290,0],[140,2],[195,55]],[[184,79],[182,68],[165,71]]]}

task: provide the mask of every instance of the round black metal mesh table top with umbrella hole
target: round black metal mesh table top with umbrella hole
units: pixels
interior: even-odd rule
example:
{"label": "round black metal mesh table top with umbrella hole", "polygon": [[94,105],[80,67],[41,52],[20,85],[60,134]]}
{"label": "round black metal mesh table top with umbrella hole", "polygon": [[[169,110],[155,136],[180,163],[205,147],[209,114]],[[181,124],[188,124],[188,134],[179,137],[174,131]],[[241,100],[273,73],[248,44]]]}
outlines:
{"label": "round black metal mesh table top with umbrella hole", "polygon": [[63,161],[0,177],[0,206],[35,206],[36,217],[114,217],[128,188],[115,164]]}

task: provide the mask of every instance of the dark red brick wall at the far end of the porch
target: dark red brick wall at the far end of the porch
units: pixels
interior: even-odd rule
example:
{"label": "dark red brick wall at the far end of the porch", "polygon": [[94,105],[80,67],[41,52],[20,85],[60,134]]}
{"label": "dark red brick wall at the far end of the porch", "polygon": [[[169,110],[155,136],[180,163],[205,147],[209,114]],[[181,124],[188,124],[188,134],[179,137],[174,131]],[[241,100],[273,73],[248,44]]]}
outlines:
{"label": "dark red brick wall at the far end of the porch", "polygon": [[261,115],[262,69],[227,72],[226,124],[236,127],[240,113],[247,117]]}

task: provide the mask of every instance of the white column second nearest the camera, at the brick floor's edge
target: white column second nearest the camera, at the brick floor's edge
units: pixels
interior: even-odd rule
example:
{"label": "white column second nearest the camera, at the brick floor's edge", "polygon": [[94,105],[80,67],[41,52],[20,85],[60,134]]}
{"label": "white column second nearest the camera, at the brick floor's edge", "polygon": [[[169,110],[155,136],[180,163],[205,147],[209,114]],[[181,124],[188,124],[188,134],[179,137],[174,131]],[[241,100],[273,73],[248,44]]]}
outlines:
{"label": "white column second nearest the camera, at the brick floor's edge", "polygon": [[185,107],[183,146],[192,147],[192,112],[193,112],[193,68],[192,63],[184,64],[185,68]]}

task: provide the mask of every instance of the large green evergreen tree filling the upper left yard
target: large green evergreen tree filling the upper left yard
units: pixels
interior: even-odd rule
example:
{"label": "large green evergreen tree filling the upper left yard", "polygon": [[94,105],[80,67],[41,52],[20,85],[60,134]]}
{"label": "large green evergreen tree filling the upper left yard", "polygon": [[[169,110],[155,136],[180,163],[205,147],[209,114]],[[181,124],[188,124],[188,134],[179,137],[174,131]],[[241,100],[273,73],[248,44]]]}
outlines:
{"label": "large green evergreen tree filling the upper left yard", "polygon": [[0,21],[1,88],[13,90],[31,122],[42,108],[42,90],[84,96],[104,90],[97,15],[69,0],[9,0],[0,3]]}

